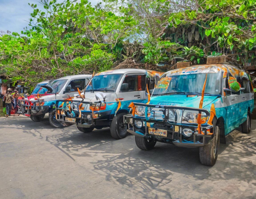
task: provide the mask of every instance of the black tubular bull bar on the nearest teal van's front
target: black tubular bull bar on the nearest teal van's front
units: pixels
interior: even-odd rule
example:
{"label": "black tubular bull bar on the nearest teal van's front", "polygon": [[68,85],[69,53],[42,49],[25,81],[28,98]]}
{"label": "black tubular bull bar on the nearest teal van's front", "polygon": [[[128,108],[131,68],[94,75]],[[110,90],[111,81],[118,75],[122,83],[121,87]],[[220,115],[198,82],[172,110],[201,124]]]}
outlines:
{"label": "black tubular bull bar on the nearest teal van's front", "polygon": [[[208,124],[207,121],[209,120],[210,117],[210,112],[205,110],[205,109],[200,109],[200,108],[192,108],[192,107],[180,107],[180,106],[169,106],[169,105],[153,105],[153,104],[144,104],[144,103],[133,103],[134,106],[144,106],[145,108],[145,118],[141,118],[139,116],[134,116],[133,114],[128,114],[124,116],[124,123],[128,124],[128,132],[141,137],[141,138],[146,138],[148,139],[150,136],[152,136],[151,134],[148,134],[148,126],[145,125],[145,131],[141,132],[140,129],[138,129],[135,126],[135,120],[142,120],[145,121],[146,123],[157,123],[157,124],[161,124],[161,125],[167,125],[172,127],[172,131],[167,130],[167,133],[171,133],[172,136],[169,137],[169,140],[172,140],[171,142],[168,141],[168,143],[173,143],[176,146],[181,146],[181,147],[198,147],[198,146],[203,146],[205,144],[208,144],[212,138],[213,138],[213,133],[207,133],[207,129],[211,129],[213,128],[213,125]],[[133,107],[136,108],[136,107]],[[132,108],[132,109],[133,109]],[[150,112],[150,118],[148,116],[148,108],[159,108],[159,109],[164,109],[163,111],[163,115],[164,118],[162,118],[162,120],[156,120],[157,116],[156,111],[151,111]],[[173,113],[173,121],[170,121],[169,119],[169,113],[170,111],[172,111]],[[206,115],[206,121],[204,124],[202,124],[201,126],[201,134],[196,134],[193,132],[193,141],[184,141],[182,138],[182,128],[184,127],[193,127],[196,128],[198,127],[198,124],[196,123],[188,123],[182,121],[183,118],[183,114],[184,111],[198,111],[198,113],[205,113]],[[153,114],[152,114],[153,113]],[[178,118],[177,118],[178,116]],[[153,118],[153,119],[152,119]],[[159,117],[158,117],[159,118]],[[179,121],[178,121],[179,120]],[[132,127],[132,128],[130,128]],[[155,128],[155,127],[154,127]],[[159,129],[161,129],[161,127],[159,127]],[[156,137],[156,136],[155,136]],[[200,137],[202,138],[200,142],[198,142],[198,139],[196,139],[196,137]],[[159,141],[161,140],[162,142],[167,142],[168,140],[167,138],[161,137],[161,139],[159,139]]]}

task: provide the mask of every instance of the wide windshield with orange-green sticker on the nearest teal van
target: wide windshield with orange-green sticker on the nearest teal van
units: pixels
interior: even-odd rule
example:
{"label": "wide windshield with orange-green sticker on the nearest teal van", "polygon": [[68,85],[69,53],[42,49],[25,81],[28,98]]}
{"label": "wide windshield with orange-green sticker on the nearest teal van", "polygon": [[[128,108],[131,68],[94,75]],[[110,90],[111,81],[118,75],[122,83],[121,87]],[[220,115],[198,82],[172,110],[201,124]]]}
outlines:
{"label": "wide windshield with orange-green sticker on the nearest teal van", "polygon": [[[155,87],[153,95],[202,93],[205,77],[206,73],[163,76]],[[204,93],[220,95],[220,84],[220,73],[208,73]]]}

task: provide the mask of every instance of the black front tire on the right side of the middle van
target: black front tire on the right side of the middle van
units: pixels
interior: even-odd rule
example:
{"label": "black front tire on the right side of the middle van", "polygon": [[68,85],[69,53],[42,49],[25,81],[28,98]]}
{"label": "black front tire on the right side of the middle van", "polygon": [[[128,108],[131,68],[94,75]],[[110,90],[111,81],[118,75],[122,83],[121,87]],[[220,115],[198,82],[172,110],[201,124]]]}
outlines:
{"label": "black front tire on the right side of the middle van", "polygon": [[115,139],[123,139],[127,136],[127,126],[124,124],[123,116],[126,113],[120,113],[116,115],[110,125],[111,136]]}

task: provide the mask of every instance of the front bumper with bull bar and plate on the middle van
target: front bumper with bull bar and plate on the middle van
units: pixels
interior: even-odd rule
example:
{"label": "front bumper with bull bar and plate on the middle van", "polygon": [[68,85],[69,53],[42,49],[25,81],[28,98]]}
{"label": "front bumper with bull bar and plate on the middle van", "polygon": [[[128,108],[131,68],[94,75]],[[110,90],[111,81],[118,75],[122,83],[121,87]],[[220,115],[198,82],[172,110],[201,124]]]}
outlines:
{"label": "front bumper with bull bar and plate on the middle van", "polygon": [[[58,102],[70,102],[70,106],[72,107],[70,110],[68,107],[60,107]],[[60,100],[56,102],[56,113],[57,120],[61,122],[70,122],[76,123],[78,127],[83,128],[101,128],[107,127],[111,124],[111,111],[96,111],[92,114],[92,111],[84,111],[75,108],[72,104],[75,104],[76,107],[79,107],[80,104],[88,104],[91,105],[90,102],[81,102],[81,101],[68,101],[68,100]]]}

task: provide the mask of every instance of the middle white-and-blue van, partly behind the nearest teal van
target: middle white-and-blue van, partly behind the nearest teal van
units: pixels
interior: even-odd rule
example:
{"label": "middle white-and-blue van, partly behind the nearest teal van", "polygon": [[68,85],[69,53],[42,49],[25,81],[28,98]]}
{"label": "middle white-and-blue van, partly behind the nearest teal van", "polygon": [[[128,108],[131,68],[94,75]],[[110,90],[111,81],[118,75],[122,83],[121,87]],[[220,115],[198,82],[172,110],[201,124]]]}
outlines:
{"label": "middle white-and-blue van, partly behind the nearest teal van", "polygon": [[142,69],[98,73],[80,94],[82,98],[57,101],[57,120],[76,123],[81,132],[110,127],[112,137],[122,139],[127,135],[123,116],[129,113],[128,105],[147,99],[147,84],[154,88],[161,74]]}

